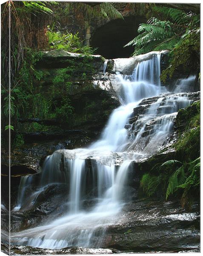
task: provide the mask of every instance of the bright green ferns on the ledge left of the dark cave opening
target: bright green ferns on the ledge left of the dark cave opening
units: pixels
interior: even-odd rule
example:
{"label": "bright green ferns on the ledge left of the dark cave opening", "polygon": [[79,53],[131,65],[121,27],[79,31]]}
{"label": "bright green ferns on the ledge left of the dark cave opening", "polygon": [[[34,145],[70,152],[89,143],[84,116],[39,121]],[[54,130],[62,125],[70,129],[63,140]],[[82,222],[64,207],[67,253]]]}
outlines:
{"label": "bright green ferns on the ledge left of the dark cave opening", "polygon": [[46,33],[50,49],[63,49],[68,52],[77,52],[81,54],[93,54],[94,49],[85,45],[78,33],[73,35],[66,31],[62,34],[60,31],[54,31],[48,26]]}

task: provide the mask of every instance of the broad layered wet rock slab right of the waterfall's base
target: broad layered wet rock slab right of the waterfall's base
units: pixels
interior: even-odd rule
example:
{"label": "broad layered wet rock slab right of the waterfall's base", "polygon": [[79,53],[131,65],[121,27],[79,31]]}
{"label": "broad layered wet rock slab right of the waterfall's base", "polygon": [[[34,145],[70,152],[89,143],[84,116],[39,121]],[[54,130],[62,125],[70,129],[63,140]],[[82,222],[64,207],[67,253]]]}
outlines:
{"label": "broad layered wet rock slab right of the waterfall's base", "polygon": [[187,212],[177,201],[137,200],[109,227],[106,246],[134,253],[199,251],[199,223],[198,203]]}

